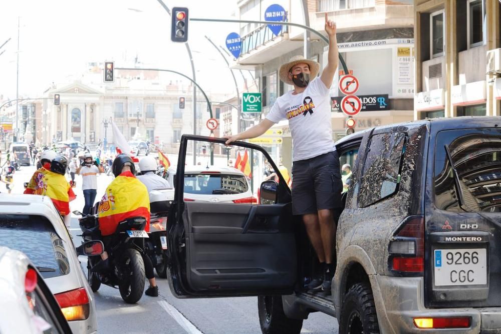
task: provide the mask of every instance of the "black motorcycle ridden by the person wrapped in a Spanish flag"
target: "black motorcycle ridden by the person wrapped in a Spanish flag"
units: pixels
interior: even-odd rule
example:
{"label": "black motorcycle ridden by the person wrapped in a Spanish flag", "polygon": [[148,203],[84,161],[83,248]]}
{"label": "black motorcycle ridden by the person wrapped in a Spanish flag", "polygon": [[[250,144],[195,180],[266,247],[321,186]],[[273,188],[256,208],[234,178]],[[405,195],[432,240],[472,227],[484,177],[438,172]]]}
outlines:
{"label": "black motorcycle ridden by the person wrapped in a Spanish flag", "polygon": [[[97,212],[97,205],[94,212]],[[91,240],[103,240],[99,230],[97,214],[84,215],[80,211],[73,211],[79,218],[83,242]],[[87,279],[92,291],[96,292],[102,284],[118,287],[122,299],[126,303],[134,304],[144,291],[144,262],[143,240],[148,238],[144,231],[146,218],[131,217],[121,221],[115,233],[106,237],[107,252],[110,270],[106,272],[94,272],[91,269],[102,261],[101,256],[89,256],[87,261]]]}

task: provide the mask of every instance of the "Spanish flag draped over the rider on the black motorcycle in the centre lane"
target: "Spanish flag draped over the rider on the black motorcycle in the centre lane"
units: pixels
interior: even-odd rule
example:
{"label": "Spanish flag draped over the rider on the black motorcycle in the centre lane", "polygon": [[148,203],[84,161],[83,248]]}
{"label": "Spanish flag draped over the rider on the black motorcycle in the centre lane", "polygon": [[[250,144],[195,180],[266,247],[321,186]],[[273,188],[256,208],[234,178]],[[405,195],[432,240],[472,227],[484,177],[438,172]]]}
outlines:
{"label": "Spanish flag draped over the rider on the black motorcycle in the centre lane", "polygon": [[131,217],[145,217],[145,230],[150,230],[148,190],[131,172],[123,172],[110,183],[99,203],[101,234],[113,234],[119,222]]}

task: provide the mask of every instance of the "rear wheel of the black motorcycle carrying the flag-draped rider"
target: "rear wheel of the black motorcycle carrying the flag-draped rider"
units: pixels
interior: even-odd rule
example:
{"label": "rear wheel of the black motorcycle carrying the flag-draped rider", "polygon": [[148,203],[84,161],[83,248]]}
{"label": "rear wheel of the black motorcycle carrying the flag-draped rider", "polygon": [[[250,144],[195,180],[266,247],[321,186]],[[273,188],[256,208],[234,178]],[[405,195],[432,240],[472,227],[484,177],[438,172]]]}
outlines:
{"label": "rear wheel of the black motorcycle carrying the flag-draped rider", "polygon": [[122,299],[135,304],[144,291],[144,262],[141,254],[135,249],[126,249],[120,261],[123,280],[118,285]]}

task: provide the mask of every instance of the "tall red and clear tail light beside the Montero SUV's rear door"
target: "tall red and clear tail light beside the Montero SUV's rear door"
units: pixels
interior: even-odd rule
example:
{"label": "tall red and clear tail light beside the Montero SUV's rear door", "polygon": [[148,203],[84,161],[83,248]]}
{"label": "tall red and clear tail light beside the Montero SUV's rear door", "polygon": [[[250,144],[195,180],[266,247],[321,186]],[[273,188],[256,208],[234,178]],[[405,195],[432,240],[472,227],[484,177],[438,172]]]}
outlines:
{"label": "tall red and clear tail light beside the Montero SUV's rear door", "polygon": [[424,217],[403,220],[389,244],[390,269],[399,273],[424,273]]}

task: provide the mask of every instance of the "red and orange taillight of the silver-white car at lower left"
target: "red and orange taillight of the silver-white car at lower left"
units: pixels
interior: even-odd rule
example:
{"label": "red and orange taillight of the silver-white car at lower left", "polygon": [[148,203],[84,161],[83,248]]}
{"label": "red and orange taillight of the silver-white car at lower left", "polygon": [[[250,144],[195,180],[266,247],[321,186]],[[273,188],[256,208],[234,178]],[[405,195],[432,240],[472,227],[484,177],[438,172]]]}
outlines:
{"label": "red and orange taillight of the silver-white car at lower left", "polygon": [[89,296],[85,288],[57,293],[54,296],[66,320],[85,320],[89,317]]}

